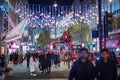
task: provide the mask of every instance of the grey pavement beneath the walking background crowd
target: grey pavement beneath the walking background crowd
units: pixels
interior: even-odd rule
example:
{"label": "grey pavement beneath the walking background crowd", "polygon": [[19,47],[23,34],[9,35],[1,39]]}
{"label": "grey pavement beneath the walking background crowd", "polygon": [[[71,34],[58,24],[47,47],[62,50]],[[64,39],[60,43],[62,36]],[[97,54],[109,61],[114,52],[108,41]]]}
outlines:
{"label": "grey pavement beneath the walking background crowd", "polygon": [[55,65],[52,65],[51,73],[47,73],[43,76],[38,69],[38,63],[36,62],[37,76],[33,77],[30,75],[30,70],[26,68],[26,61],[21,65],[14,66],[13,64],[9,64],[8,66],[13,68],[13,72],[8,73],[7,80],[68,80],[70,71],[68,66],[61,62],[60,67],[55,68]]}

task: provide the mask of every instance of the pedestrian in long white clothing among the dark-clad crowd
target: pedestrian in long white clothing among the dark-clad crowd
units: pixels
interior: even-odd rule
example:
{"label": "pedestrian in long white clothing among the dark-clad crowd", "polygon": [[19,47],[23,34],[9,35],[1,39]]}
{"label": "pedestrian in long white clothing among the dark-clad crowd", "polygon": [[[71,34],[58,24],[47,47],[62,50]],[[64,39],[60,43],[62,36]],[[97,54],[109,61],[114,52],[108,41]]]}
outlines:
{"label": "pedestrian in long white clothing among the dark-clad crowd", "polygon": [[30,57],[30,75],[31,76],[36,76],[36,71],[35,71],[35,56],[33,53],[31,53],[31,57]]}

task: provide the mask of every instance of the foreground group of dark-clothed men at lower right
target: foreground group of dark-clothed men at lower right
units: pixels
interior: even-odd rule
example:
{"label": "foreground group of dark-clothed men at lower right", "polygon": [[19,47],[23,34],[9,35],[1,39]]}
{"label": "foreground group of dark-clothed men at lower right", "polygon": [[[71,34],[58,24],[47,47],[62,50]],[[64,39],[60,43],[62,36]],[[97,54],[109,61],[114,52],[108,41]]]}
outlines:
{"label": "foreground group of dark-clothed men at lower right", "polygon": [[[114,59],[113,59],[114,58]],[[103,49],[96,60],[93,54],[82,48],[79,58],[73,63],[69,80],[117,80],[117,61],[108,49]],[[118,78],[120,80],[120,78]]]}

